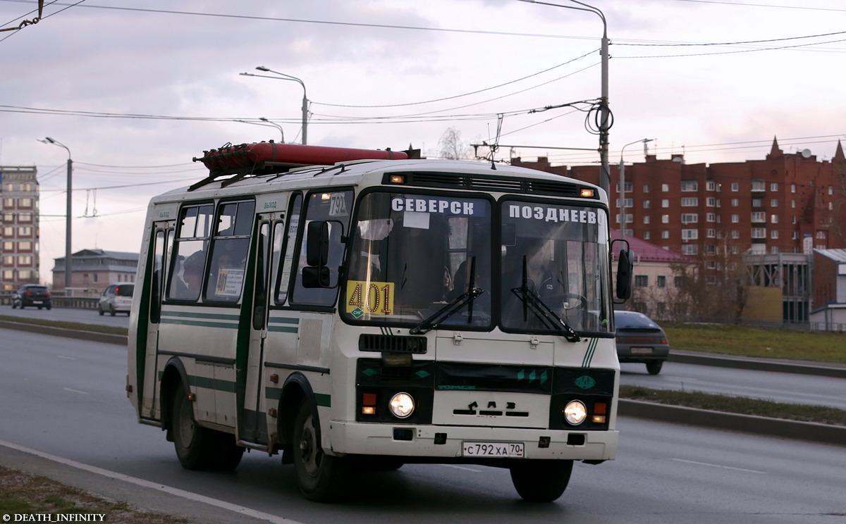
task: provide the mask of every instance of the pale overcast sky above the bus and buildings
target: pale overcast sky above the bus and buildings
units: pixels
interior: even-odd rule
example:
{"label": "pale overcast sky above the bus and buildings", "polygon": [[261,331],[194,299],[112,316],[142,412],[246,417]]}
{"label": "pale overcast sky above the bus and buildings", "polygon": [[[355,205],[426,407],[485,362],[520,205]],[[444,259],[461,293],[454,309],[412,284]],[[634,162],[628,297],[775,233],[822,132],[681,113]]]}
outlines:
{"label": "pale overcast sky above the bus and buildings", "polygon": [[[202,177],[194,156],[281,139],[255,125],[261,117],[301,140],[302,88],[239,75],[263,74],[256,66],[303,80],[310,145],[437,156],[448,128],[468,144],[498,128],[502,145],[598,145],[585,105],[530,112],[601,95],[602,20],[590,12],[519,0],[45,3],[36,25],[0,32],[0,165],[37,166],[48,283],[64,254],[68,154],[38,139],[74,160],[74,252],[138,252],[147,201]],[[846,139],[842,0],[588,3],[612,41],[612,163],[644,138],[659,158],[708,164],[762,159],[774,136],[786,152],[830,159]],[[0,0],[0,27],[36,8]],[[595,151],[499,154],[598,161]],[[642,161],[642,146],[625,158]]]}

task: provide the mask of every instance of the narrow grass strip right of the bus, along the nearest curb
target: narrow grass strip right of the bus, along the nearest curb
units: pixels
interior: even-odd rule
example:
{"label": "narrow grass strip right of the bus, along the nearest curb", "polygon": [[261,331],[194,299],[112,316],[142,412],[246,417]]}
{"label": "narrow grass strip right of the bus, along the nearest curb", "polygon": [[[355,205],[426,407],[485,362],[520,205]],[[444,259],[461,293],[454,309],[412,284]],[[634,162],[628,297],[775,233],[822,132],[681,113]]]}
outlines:
{"label": "narrow grass strip right of the bus, along the nearest curb", "polygon": [[741,396],[713,395],[696,391],[651,390],[637,385],[620,385],[620,397],[671,406],[695,407],[715,412],[846,426],[846,411],[836,407],[784,404],[782,402]]}

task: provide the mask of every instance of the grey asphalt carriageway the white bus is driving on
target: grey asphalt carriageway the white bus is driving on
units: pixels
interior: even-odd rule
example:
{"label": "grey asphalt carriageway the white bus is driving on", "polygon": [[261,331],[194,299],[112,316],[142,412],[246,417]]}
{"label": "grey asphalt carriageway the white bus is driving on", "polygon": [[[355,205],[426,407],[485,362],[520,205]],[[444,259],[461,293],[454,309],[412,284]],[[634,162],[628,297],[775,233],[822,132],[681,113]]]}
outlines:
{"label": "grey asphalt carriageway the white bus is driving on", "polygon": [[[160,487],[104,479],[102,489],[124,499],[150,501],[155,497],[142,492],[168,486],[308,524],[816,524],[846,516],[842,447],[634,418],[619,420],[618,460],[578,463],[554,504],[519,500],[504,470],[409,465],[362,474],[343,504],[316,505],[299,496],[293,468],[278,457],[250,453],[228,474],[179,467],[162,432],[135,423],[124,393],[124,347],[0,330],[0,357],[0,440]],[[0,453],[6,460],[8,451]],[[172,511],[196,517],[193,507],[174,504]],[[222,521],[227,511],[217,511]]]}

